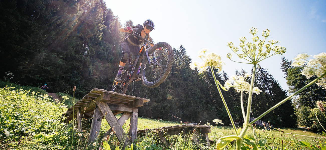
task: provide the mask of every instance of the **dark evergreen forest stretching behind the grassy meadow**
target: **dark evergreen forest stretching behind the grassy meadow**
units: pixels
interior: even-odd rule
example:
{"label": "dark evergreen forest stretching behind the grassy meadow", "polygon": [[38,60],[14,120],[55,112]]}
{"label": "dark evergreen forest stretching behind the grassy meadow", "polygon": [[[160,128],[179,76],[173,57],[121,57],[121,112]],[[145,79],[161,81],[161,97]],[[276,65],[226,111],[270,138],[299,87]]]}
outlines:
{"label": "dark evergreen forest stretching behind the grassy meadow", "polygon": [[[132,20],[120,22],[108,7],[102,0],[0,1],[0,76],[19,85],[40,87],[46,83],[51,87],[48,92],[72,94],[76,86],[77,98],[94,88],[111,90],[122,55],[120,43],[124,34],[118,29],[135,24]],[[225,125],[230,124],[210,69],[203,73],[192,70],[186,48],[180,45],[173,50],[170,75],[159,87],[146,88],[141,82],[129,85],[126,94],[151,100],[140,108],[139,116],[202,124],[220,119]],[[300,74],[302,68],[290,66],[287,58],[282,61],[279,65],[288,80],[289,91],[280,87],[268,68],[259,66],[255,87],[263,92],[253,97],[252,116],[262,114],[313,80]],[[229,75],[214,71],[224,85]],[[251,73],[234,71],[235,75]],[[240,94],[230,89],[223,91],[223,95],[231,104],[234,121],[241,120]],[[311,86],[261,120],[270,121],[274,127],[301,124],[314,128],[316,119],[307,110],[315,108],[317,100],[326,101],[325,97],[325,89]]]}

